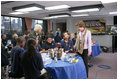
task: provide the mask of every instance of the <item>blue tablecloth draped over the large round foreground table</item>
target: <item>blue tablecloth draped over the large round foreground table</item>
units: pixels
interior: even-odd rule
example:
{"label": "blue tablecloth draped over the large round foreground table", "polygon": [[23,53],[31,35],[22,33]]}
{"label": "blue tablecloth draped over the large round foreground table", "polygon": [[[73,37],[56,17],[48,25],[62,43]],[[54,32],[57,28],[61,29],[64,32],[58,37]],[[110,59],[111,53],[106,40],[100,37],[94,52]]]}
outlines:
{"label": "blue tablecloth draped over the large round foreground table", "polygon": [[77,63],[68,63],[53,60],[51,64],[45,65],[45,68],[51,73],[53,79],[86,79],[86,69],[81,57]]}

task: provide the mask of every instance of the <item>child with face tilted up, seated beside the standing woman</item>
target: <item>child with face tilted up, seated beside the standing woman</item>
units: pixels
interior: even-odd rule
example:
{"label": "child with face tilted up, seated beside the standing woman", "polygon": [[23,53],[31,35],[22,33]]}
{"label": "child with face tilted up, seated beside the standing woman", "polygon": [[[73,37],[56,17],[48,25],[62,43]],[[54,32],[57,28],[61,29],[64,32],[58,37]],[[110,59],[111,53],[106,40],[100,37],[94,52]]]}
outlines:
{"label": "child with face tilted up, seated beside the standing woman", "polygon": [[73,52],[73,42],[69,39],[69,33],[63,33],[63,38],[61,40],[61,48],[64,48],[65,53]]}

